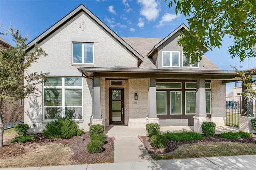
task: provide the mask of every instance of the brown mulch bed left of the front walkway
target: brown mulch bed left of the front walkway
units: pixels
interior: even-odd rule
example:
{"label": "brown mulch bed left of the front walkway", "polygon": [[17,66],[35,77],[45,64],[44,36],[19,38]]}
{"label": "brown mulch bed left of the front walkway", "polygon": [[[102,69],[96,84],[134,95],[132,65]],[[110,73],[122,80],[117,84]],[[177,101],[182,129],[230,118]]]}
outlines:
{"label": "brown mulch bed left of the front walkway", "polygon": [[114,162],[114,142],[112,138],[106,138],[102,153],[91,154],[87,152],[86,145],[90,142],[89,132],[84,133],[83,137],[74,136],[70,139],[48,139],[42,134],[27,143],[8,143],[4,142],[4,147],[0,148],[0,159],[10,158],[26,154],[25,147],[33,143],[61,143],[73,148],[72,159],[76,163],[103,163]]}

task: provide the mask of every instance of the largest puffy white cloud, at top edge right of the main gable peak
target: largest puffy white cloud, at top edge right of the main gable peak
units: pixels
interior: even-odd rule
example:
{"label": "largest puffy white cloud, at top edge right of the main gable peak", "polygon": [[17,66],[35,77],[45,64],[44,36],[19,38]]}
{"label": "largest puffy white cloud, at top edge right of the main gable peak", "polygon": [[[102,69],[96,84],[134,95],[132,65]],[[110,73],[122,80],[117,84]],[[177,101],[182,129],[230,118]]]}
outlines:
{"label": "largest puffy white cloud, at top edge right of the main gable peak", "polygon": [[144,16],[148,21],[155,21],[159,16],[160,8],[159,2],[155,0],[138,0],[138,3],[142,6],[140,9],[140,15]]}

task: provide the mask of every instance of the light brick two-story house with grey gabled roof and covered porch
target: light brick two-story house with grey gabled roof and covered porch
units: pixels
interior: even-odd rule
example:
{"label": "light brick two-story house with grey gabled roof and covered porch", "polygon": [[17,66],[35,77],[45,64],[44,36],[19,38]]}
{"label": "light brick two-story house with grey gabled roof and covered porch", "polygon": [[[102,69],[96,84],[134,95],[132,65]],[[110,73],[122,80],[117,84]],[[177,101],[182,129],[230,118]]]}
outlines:
{"label": "light brick two-story house with grey gabled roof and covered porch", "polygon": [[24,101],[30,132],[58,117],[80,128],[102,124],[145,127],[226,124],[226,82],[207,57],[190,64],[177,45],[180,25],[164,39],[119,37],[83,5],[28,44],[48,54],[28,72],[49,72],[41,97]]}

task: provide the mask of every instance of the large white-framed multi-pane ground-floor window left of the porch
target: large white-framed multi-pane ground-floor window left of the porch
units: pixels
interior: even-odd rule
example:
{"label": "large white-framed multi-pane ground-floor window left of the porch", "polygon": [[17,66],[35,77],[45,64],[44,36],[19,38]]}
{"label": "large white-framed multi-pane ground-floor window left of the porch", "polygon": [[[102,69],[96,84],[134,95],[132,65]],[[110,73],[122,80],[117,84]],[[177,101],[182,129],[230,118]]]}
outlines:
{"label": "large white-framed multi-pane ground-floor window left of the porch", "polygon": [[48,77],[44,83],[44,120],[82,119],[82,78]]}

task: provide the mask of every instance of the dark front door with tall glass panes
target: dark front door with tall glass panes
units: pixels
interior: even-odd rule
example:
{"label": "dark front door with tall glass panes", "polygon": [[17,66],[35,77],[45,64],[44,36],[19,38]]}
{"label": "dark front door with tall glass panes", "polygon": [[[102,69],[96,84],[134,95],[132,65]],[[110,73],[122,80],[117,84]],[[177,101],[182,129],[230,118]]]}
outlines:
{"label": "dark front door with tall glass panes", "polygon": [[109,88],[110,125],[124,125],[124,88]]}

